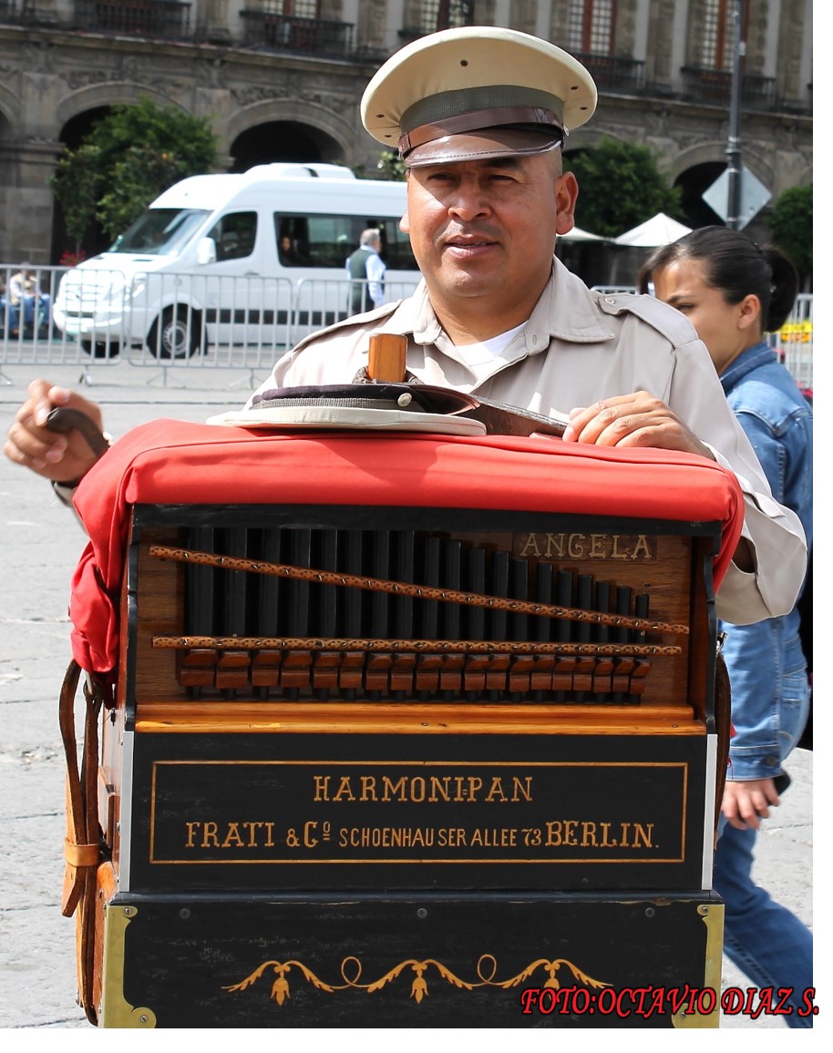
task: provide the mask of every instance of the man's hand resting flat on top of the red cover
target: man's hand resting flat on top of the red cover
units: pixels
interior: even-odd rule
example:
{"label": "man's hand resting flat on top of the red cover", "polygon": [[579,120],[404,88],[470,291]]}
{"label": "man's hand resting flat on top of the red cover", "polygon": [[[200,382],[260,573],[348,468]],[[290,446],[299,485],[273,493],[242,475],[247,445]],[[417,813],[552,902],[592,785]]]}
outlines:
{"label": "man's hand resting flat on top of the red cover", "polygon": [[617,395],[570,411],[567,442],[599,446],[653,446],[682,450],[714,460],[711,451],[665,402],[648,392]]}

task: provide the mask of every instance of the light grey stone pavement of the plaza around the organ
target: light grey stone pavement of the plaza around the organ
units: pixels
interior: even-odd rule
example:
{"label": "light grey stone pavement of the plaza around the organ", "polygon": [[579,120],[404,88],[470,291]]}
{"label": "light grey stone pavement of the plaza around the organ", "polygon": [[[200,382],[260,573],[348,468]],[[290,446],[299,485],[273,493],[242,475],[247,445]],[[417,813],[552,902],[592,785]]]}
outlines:
{"label": "light grey stone pavement of the plaza around the organ", "polygon": [[[3,366],[0,435],[5,436],[37,367]],[[51,367],[77,385],[78,366]],[[257,382],[263,378],[255,378]],[[108,366],[84,389],[118,437],[161,417],[203,421],[242,403],[245,372],[172,370],[166,386],[147,374]],[[187,389],[179,386],[187,381]],[[70,579],[84,545],[72,514],[48,484],[0,456],[0,1028],[88,1028],[75,1004],[75,922],[61,916],[64,836],[63,753],[57,700],[70,659]],[[756,877],[805,922],[813,923],[813,754],[796,751],[793,784],[758,839]],[[818,960],[818,956],[817,956]],[[819,962],[820,965],[820,962]],[[817,966],[818,970],[818,966]],[[816,1032],[827,1006],[819,982]],[[723,987],[751,986],[727,959]],[[732,1029],[782,1029],[779,1019],[723,1017]]]}

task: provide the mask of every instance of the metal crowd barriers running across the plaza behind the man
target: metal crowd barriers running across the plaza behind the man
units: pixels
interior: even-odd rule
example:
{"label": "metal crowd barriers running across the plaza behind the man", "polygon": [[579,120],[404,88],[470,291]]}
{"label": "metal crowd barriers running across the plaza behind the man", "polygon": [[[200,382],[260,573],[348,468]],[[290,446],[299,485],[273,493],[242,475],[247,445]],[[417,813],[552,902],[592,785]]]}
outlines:
{"label": "metal crowd barriers running across the plaza behind the man", "polygon": [[[120,363],[162,370],[271,370],[309,333],[351,313],[352,282],[237,275],[137,274],[125,286],[121,272],[73,271],[72,286],[56,299],[64,266],[35,266],[39,290],[29,319],[12,303],[9,286],[20,264],[0,265],[0,382],[4,365],[79,365],[91,371]],[[366,282],[362,283],[366,286]],[[414,280],[385,281],[386,301],[410,295]],[[633,286],[594,286],[600,292]],[[363,291],[368,306],[370,297]],[[94,321],[94,305],[96,316]],[[60,322],[60,327],[57,324]],[[813,296],[799,295],[787,324],[771,336],[798,385],[813,386]]]}

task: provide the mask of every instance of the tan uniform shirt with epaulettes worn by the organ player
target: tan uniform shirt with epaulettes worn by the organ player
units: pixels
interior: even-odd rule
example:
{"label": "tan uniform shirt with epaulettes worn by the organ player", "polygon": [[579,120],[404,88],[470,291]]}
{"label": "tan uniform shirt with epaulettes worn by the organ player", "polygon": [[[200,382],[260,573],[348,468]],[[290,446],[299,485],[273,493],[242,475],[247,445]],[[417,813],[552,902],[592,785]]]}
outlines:
{"label": "tan uniform shirt with epaulettes worn by the organ player", "polygon": [[649,296],[592,292],[555,260],[523,330],[499,357],[473,369],[465,349],[440,329],[420,283],[406,300],[302,340],[277,362],[260,391],[350,383],[368,364],[372,333],[408,336],[408,370],[423,383],[476,392],[535,413],[566,414],[641,390],[662,399],[734,471],[743,490],[743,535],[754,547],[757,571],[731,567],[717,597],[718,616],[747,624],[792,610],[807,562],[801,524],[773,499],[706,346],[678,311]]}

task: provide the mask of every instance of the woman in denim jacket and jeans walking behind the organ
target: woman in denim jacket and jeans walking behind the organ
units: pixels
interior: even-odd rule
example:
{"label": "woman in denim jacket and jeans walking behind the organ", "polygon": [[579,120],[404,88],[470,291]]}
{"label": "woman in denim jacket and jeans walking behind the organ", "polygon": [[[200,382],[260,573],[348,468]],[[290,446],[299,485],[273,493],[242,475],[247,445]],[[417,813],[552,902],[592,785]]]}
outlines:
{"label": "woman in denim jacket and jeans walking behind the organ", "polygon": [[[750,438],[781,504],[813,532],[813,417],[807,399],[766,339],[787,320],[798,290],[792,263],[723,226],[694,231],[656,250],[639,274],[657,299],[694,323],[709,349],[729,405]],[[760,988],[790,988],[790,1027],[813,986],[813,936],[752,879],[761,819],[780,801],[784,762],[800,738],[810,702],[799,614],[749,625],[720,622],[732,686],[730,767],[714,862],[714,888],[726,903],[725,949]]]}

